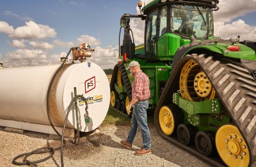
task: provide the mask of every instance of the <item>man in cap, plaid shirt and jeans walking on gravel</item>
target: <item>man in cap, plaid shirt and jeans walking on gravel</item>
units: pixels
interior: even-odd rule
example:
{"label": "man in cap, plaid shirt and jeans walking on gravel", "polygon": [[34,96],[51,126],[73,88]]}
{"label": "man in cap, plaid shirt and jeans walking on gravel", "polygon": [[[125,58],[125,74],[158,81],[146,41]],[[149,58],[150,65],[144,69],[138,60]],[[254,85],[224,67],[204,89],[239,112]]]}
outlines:
{"label": "man in cap, plaid shirt and jeans walking on gravel", "polygon": [[150,97],[149,79],[148,76],[141,71],[138,61],[131,61],[129,67],[126,69],[129,69],[134,76],[132,83],[132,100],[126,107],[127,111],[129,111],[133,106],[132,125],[126,141],[122,140],[120,143],[125,148],[131,149],[132,141],[139,127],[143,140],[143,148],[137,150],[134,154],[151,154],[150,132],[147,124],[148,98]]}

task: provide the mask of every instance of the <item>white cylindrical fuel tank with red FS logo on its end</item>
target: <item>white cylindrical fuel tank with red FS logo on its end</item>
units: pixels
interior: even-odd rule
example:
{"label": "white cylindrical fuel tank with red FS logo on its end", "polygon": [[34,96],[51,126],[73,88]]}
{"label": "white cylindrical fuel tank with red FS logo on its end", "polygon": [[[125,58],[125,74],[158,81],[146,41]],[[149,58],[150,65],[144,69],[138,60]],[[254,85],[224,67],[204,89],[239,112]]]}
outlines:
{"label": "white cylindrical fuel tank with red FS logo on its end", "polygon": [[[89,132],[99,127],[108,113],[110,100],[108,77],[95,63],[84,62],[64,65],[52,80],[59,67],[60,65],[2,68],[0,126],[56,134],[47,116],[47,105],[49,105],[51,122],[54,126],[60,127],[58,131],[61,132],[76,87],[77,95],[83,95],[88,102],[90,117],[90,122],[84,120],[85,102],[79,99],[77,101],[79,131]],[[53,83],[47,104],[47,90],[51,82]],[[77,129],[74,104],[68,115],[66,127]]]}

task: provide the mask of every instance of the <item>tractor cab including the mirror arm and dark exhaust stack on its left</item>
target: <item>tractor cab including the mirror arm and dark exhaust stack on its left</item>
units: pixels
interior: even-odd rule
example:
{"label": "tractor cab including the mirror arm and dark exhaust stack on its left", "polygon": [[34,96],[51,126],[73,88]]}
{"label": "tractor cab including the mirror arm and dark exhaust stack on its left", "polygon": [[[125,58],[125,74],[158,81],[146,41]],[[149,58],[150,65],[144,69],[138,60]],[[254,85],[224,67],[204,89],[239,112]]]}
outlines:
{"label": "tractor cab including the mirror arm and dark exhaust stack on its left", "polygon": [[[121,18],[125,33],[120,55],[125,54],[124,58],[129,59],[139,55],[148,61],[172,61],[177,49],[189,44],[192,37],[196,40],[213,37],[212,10],[218,10],[217,4],[218,0],[159,0],[141,9],[139,3],[141,15],[124,14]],[[145,43],[141,49],[135,48],[130,17],[145,20]]]}

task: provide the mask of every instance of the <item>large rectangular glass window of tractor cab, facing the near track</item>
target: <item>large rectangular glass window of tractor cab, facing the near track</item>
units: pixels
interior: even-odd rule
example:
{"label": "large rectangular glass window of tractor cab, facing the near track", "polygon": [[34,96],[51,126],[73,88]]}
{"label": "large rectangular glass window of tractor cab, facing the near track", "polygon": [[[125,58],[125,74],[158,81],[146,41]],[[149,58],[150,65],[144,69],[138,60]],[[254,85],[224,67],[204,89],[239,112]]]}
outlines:
{"label": "large rectangular glass window of tractor cab, facing the near track", "polygon": [[171,31],[177,35],[207,38],[213,34],[211,8],[172,4],[170,19]]}

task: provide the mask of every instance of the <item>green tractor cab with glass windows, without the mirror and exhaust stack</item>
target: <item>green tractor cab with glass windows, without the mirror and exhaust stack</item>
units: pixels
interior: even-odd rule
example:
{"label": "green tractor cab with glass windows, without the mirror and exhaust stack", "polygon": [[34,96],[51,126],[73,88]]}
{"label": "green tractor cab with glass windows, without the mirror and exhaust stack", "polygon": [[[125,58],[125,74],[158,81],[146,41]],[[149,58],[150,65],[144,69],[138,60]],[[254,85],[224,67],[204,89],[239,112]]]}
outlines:
{"label": "green tractor cab with glass windows, without the mirror and exhaust stack", "polygon": [[[150,5],[150,4],[148,4]],[[148,60],[170,61],[190,38],[213,37],[212,4],[172,1],[142,10],[146,19],[145,55]]]}

